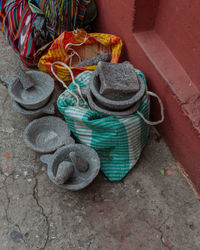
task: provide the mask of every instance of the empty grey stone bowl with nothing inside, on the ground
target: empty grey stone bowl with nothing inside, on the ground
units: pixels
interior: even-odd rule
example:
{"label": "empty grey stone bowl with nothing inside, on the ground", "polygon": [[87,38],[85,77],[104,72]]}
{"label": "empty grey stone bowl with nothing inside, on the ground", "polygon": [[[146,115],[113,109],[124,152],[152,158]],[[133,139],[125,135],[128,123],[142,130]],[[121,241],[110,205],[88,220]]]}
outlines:
{"label": "empty grey stone bowl with nothing inside, on the ground", "polygon": [[39,153],[51,153],[74,143],[66,122],[55,116],[44,116],[30,122],[24,130],[24,141]]}

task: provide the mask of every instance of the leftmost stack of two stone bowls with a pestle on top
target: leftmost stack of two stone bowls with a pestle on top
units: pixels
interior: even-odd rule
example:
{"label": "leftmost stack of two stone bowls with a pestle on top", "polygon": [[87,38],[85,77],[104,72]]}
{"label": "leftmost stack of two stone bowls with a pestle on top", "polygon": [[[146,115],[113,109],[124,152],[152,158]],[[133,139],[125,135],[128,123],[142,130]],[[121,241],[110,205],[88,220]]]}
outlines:
{"label": "leftmost stack of two stone bowls with a pestle on top", "polygon": [[54,114],[53,78],[39,71],[24,72],[20,67],[17,74],[4,80],[15,110],[28,118]]}

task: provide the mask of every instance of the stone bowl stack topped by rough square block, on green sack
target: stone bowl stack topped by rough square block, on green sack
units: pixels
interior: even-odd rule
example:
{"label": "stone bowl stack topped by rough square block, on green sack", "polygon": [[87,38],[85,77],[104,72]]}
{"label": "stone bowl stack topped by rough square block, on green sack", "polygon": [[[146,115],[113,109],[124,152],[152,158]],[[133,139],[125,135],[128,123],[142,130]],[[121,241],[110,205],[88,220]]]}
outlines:
{"label": "stone bowl stack topped by rough square block, on green sack", "polygon": [[139,109],[146,85],[129,62],[99,62],[87,99],[91,109],[105,116],[128,116]]}

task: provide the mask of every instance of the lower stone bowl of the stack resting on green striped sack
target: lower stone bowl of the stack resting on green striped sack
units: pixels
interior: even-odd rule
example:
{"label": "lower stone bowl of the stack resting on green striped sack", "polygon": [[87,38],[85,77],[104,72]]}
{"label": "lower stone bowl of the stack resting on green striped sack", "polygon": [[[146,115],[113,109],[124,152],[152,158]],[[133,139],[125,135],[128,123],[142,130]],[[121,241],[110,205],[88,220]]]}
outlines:
{"label": "lower stone bowl of the stack resting on green striped sack", "polygon": [[90,108],[97,111],[98,113],[100,113],[104,116],[128,116],[128,115],[132,115],[133,113],[135,113],[139,109],[140,103],[142,101],[142,99],[137,101],[132,107],[130,107],[126,110],[113,111],[113,110],[107,109],[101,103],[99,103],[91,91],[87,92],[87,99],[88,99],[88,103],[89,103]]}

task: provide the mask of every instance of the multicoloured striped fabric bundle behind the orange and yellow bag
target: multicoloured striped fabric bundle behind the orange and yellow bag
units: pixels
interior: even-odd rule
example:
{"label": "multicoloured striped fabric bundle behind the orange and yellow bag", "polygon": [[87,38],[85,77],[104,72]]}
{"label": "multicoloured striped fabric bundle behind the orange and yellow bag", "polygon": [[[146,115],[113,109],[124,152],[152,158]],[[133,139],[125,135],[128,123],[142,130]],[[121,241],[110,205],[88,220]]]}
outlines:
{"label": "multicoloured striped fabric bundle behind the orange and yellow bag", "polygon": [[[0,0],[1,30],[13,49],[19,53],[24,65],[33,67],[36,66],[36,50],[44,46],[44,43],[48,44],[49,38],[52,40],[65,30],[76,29],[84,19],[90,2],[91,0]],[[77,21],[79,17],[80,21]],[[42,30],[40,26],[37,27],[39,18],[45,19]],[[40,38],[40,46],[35,46],[36,40]]]}

